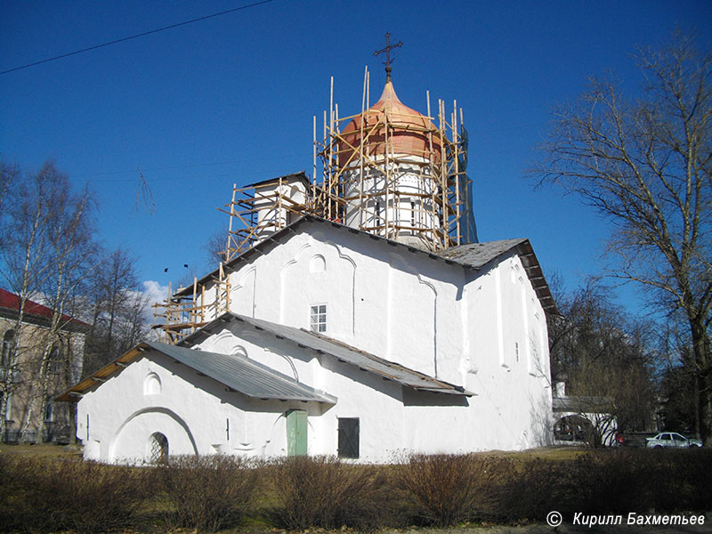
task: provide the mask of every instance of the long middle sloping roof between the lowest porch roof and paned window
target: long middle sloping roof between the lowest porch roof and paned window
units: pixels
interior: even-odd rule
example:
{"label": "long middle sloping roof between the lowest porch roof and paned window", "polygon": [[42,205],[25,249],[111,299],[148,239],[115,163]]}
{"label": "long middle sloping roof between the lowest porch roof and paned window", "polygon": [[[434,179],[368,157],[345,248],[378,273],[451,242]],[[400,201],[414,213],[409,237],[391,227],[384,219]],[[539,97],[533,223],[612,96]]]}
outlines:
{"label": "long middle sloping roof between the lowest porch roof and paned window", "polygon": [[218,319],[209,322],[205,327],[184,338],[180,344],[199,343],[206,338],[206,336],[210,336],[214,333],[212,331],[213,328],[231,321],[246,323],[257,330],[269,332],[279,339],[286,339],[295,344],[298,348],[310,349],[319,354],[327,354],[328,356],[336,358],[338,361],[350,364],[363,371],[368,371],[386,380],[392,380],[393,382],[418,391],[447,393],[451,395],[473,395],[473,393],[465,391],[465,389],[459,385],[449,384],[433,376],[428,376],[425,375],[425,373],[402,366],[399,363],[384,360],[369,352],[360,351],[348,344],[336,341],[336,339],[321,336],[320,334],[304,330],[303,328],[286,327],[267,320],[245,317],[237,313],[224,313]]}

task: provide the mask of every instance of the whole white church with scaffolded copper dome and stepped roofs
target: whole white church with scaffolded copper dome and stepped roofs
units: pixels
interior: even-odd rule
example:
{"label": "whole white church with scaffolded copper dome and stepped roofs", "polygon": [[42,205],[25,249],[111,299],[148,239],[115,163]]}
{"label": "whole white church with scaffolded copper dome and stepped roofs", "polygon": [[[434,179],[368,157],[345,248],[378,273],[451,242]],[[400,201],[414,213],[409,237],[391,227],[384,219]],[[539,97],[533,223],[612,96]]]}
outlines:
{"label": "whole white church with scaffolded copper dome and stepped roofs", "polygon": [[332,107],[311,179],[233,191],[225,262],[169,296],[161,342],[61,394],[85,458],[550,442],[556,309],[537,257],[528,239],[477,242],[461,114],[409,109],[386,72],[372,106]]}

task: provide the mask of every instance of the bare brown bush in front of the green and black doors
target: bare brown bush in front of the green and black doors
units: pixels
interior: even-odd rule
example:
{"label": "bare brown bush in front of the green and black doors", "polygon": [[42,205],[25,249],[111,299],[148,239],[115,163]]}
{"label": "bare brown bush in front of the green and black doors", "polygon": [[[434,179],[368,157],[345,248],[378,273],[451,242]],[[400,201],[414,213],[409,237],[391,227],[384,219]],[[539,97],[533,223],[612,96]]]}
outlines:
{"label": "bare brown bush in front of the green and black doors", "polygon": [[277,518],[287,529],[368,529],[383,523],[383,469],[336,457],[288,457],[272,463],[270,479]]}

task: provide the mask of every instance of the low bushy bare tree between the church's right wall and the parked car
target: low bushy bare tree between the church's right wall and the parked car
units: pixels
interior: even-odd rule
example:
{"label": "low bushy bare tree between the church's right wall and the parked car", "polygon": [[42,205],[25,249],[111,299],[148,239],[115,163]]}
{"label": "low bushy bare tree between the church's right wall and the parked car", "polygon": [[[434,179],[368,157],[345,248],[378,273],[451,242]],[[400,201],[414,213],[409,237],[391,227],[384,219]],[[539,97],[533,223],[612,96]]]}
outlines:
{"label": "low bushy bare tree between the church's right wall and the parked car", "polygon": [[562,317],[549,318],[552,376],[567,384],[567,411],[589,423],[584,441],[597,447],[618,430],[645,430],[660,360],[651,325],[627,316],[594,279],[573,293],[559,291],[557,304]]}

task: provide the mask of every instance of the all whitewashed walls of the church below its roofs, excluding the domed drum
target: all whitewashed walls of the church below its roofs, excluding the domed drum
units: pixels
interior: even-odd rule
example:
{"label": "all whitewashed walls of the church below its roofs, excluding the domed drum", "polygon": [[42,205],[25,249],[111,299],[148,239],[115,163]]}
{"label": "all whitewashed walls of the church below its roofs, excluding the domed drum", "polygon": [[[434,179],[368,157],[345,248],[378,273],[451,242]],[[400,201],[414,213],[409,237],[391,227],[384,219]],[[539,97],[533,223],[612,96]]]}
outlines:
{"label": "all whitewashed walls of the church below its roofs, excluding the domed drum", "polygon": [[[201,348],[246,355],[336,396],[336,405],[251,401],[150,356],[79,402],[82,439],[90,417],[87,456],[145,457],[159,427],[172,453],[282,456],[287,409],[308,411],[309,454],[336,454],[338,418],[358,417],[362,461],[551,440],[546,319],[517,255],[466,271],[328,224],[307,228],[235,266],[232,311],[308,329],[310,306],[326,303],[326,336],[474,395],[416,392],[236,321]],[[151,372],[160,377],[160,395],[143,394]]]}

